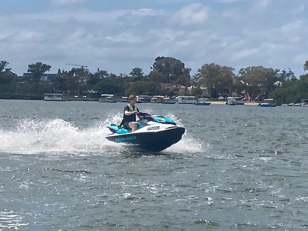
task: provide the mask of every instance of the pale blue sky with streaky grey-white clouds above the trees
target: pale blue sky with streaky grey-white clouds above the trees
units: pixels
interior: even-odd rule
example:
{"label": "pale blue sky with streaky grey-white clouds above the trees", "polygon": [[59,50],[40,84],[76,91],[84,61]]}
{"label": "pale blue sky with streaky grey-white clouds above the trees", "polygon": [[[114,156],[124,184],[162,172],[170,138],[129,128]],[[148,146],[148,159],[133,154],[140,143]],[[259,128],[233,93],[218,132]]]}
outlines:
{"label": "pale blue sky with streaky grey-white clouds above the trees", "polygon": [[308,60],[307,0],[0,0],[0,60],[18,75],[85,65],[119,75],[157,56],[202,65],[291,68]]}

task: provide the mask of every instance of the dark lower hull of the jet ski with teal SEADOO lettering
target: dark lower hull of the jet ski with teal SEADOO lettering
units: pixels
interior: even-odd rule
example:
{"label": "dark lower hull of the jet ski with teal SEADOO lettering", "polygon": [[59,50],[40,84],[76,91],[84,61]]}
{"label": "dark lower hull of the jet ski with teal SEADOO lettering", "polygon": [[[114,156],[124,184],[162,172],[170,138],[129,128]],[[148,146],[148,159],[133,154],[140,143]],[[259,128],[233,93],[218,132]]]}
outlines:
{"label": "dark lower hull of the jet ski with teal SEADOO lettering", "polygon": [[140,149],[160,152],[176,144],[182,139],[185,128],[173,126],[156,132],[130,132],[126,134],[111,134],[106,136],[110,141],[116,143],[128,143]]}

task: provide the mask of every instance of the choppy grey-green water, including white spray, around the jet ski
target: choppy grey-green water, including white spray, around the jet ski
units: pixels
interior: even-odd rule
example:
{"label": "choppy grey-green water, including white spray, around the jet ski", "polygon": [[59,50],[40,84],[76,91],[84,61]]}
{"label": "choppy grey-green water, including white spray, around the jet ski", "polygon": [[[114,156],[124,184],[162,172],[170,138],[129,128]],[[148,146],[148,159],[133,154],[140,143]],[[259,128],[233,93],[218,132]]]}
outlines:
{"label": "choppy grey-green water, including white spray, around the jet ski", "polygon": [[138,104],[163,152],[104,138],[124,103],[0,100],[0,230],[307,230],[307,107]]}

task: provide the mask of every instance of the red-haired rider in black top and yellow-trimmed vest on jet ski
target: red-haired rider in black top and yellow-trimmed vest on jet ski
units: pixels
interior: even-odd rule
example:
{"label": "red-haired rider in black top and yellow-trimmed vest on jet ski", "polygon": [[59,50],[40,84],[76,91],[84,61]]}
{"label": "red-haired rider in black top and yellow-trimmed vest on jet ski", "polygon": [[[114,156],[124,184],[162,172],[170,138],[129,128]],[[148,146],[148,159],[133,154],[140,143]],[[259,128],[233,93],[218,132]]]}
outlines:
{"label": "red-haired rider in black top and yellow-trimmed vest on jet ski", "polygon": [[138,125],[136,122],[136,115],[139,117],[139,119],[141,119],[142,116],[139,115],[139,109],[135,106],[135,104],[137,103],[136,95],[130,95],[128,97],[128,100],[130,104],[124,107],[123,120],[119,128],[123,125],[125,129],[131,128],[132,132],[135,132]]}

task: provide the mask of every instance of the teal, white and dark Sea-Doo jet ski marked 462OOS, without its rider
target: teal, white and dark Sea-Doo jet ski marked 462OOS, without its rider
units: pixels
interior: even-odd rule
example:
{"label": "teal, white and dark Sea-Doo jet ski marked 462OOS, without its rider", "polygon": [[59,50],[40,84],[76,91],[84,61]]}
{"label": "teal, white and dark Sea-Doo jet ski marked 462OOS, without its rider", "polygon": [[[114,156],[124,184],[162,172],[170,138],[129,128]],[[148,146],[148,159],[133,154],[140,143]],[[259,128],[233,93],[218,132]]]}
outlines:
{"label": "teal, white and dark Sea-Doo jet ski marked 462OOS, without its rider", "polygon": [[135,132],[123,126],[110,124],[108,128],[112,134],[105,137],[116,143],[128,143],[154,152],[160,152],[182,139],[185,128],[176,125],[173,120],[162,115],[150,115],[143,112],[139,115],[142,118],[137,121],[138,127]]}

